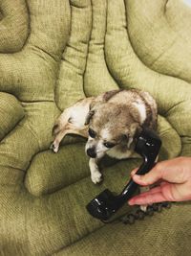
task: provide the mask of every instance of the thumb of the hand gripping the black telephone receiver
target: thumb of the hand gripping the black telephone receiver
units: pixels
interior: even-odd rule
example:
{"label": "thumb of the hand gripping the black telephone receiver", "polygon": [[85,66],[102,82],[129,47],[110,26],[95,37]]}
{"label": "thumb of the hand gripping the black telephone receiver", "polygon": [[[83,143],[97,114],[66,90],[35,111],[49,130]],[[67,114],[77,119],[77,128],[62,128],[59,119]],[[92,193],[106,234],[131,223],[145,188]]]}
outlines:
{"label": "thumb of the hand gripping the black telephone receiver", "polygon": [[159,181],[162,177],[161,169],[156,165],[148,174],[146,175],[134,175],[132,174],[133,180],[141,186],[151,185]]}

